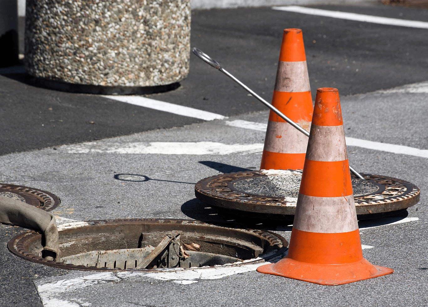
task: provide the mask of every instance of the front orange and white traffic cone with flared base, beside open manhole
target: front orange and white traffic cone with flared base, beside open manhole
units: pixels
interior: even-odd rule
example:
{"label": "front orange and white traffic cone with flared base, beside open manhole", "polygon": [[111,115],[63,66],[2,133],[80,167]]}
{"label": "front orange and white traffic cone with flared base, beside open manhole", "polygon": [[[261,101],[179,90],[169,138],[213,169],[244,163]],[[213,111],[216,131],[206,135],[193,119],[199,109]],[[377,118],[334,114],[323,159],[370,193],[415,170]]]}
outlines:
{"label": "front orange and white traffic cone with flared base, beside open manhole", "polygon": [[318,89],[288,256],[257,271],[322,285],[394,272],[363,258],[337,89]]}

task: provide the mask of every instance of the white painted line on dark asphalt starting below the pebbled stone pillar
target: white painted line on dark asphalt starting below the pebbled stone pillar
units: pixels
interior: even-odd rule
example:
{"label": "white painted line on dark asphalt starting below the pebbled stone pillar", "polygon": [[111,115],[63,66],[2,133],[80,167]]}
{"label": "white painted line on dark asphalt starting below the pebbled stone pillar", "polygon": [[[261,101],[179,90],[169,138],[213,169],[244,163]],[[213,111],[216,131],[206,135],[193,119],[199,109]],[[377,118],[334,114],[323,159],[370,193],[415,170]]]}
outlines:
{"label": "white painted line on dark asphalt starting below the pebbled stone pillar", "polygon": [[224,119],[226,116],[202,111],[198,109],[193,109],[188,106],[180,106],[178,104],[164,102],[160,100],[150,99],[141,96],[116,96],[116,95],[101,95],[102,97],[118,100],[136,106],[143,106],[145,108],[155,109],[163,112],[174,113],[178,115],[193,117],[203,119],[204,121],[213,121],[214,119]]}

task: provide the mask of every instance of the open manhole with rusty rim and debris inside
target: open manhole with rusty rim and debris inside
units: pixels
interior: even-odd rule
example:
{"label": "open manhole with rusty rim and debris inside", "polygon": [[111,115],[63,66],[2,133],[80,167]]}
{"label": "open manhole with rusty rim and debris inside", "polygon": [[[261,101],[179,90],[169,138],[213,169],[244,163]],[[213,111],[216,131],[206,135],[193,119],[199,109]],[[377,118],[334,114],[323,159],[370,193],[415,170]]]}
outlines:
{"label": "open manhole with rusty rim and debris inside", "polygon": [[42,234],[30,230],[8,248],[26,260],[61,269],[147,270],[240,265],[284,253],[288,242],[262,230],[219,227],[200,221],[123,219],[62,224],[61,258],[41,257]]}

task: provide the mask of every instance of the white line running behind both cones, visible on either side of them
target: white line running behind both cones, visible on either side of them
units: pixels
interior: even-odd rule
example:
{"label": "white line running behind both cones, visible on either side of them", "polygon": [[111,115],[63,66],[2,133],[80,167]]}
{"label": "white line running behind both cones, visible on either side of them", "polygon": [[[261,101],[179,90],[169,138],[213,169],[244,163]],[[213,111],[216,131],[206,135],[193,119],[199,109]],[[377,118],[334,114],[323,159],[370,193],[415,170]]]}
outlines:
{"label": "white line running behind both cones, visible on either side of them", "polygon": [[[427,90],[428,90],[428,83],[427,83]],[[242,121],[242,120],[226,121],[225,123],[226,125],[232,126],[232,127],[239,127],[239,128],[259,130],[259,131],[264,131],[266,130],[266,127],[268,127],[268,124],[264,125],[262,123],[256,123],[252,121]],[[356,139],[351,137],[346,137],[346,145],[373,149],[377,151],[386,151],[390,153],[405,154],[408,156],[418,156],[422,158],[428,158],[427,149],[413,148],[413,147],[404,146],[404,145],[373,142],[373,141]]]}

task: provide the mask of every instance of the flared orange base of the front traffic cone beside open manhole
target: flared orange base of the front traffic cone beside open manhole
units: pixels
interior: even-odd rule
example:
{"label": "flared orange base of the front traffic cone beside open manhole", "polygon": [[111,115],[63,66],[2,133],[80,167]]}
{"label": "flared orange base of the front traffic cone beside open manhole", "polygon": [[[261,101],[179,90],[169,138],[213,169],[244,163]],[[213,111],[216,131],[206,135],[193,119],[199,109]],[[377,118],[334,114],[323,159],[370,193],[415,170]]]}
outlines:
{"label": "flared orange base of the front traffic cone beside open manhole", "polygon": [[257,272],[335,286],[388,275],[394,270],[374,266],[364,258],[354,263],[344,264],[304,263],[283,258],[277,263],[259,266]]}

